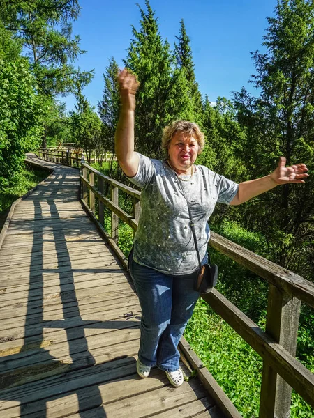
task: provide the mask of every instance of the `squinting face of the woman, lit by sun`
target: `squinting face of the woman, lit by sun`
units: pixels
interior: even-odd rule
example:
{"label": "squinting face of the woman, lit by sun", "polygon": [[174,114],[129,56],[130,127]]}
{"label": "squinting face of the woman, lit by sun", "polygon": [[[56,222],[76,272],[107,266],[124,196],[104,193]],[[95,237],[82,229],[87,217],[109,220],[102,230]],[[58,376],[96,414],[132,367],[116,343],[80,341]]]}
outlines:
{"label": "squinting face of the woman, lit by sun", "polygon": [[184,132],[177,132],[170,141],[168,154],[172,167],[183,173],[188,171],[196,160],[198,142]]}

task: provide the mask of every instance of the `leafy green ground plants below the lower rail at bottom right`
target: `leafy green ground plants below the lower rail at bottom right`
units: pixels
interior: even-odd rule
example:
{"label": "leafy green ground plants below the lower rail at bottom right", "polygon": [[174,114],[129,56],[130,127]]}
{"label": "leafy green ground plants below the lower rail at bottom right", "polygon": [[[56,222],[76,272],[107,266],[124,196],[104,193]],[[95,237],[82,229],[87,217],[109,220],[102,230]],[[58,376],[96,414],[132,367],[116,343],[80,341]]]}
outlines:
{"label": "leafy green ground plants below the lower rail at bottom right", "polygon": [[[259,325],[262,326],[264,320]],[[204,300],[197,301],[184,336],[218,385],[244,418],[259,415],[262,359],[253,348],[216,315]],[[304,364],[314,371],[314,357]],[[292,393],[291,418],[313,418],[314,410]]]}

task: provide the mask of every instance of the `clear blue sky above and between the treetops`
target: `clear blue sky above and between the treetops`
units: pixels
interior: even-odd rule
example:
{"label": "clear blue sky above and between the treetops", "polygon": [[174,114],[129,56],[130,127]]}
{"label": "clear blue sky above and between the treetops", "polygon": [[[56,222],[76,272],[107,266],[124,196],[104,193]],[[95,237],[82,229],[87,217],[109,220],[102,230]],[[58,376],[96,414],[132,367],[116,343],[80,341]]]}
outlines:
{"label": "clear blue sky above and between the treetops", "polygon": [[[73,34],[80,35],[86,54],[75,62],[82,70],[94,68],[95,77],[84,88],[84,95],[95,107],[103,95],[103,72],[114,56],[122,66],[130,45],[131,26],[139,28],[140,10],[144,0],[80,0],[79,19],[73,23]],[[173,47],[183,18],[190,38],[195,75],[200,91],[209,100],[218,96],[231,98],[232,91],[246,86],[255,72],[251,51],[263,50],[262,36],[267,16],[274,15],[276,0],[150,0],[160,24],[160,34]],[[75,98],[61,98],[67,109]]]}

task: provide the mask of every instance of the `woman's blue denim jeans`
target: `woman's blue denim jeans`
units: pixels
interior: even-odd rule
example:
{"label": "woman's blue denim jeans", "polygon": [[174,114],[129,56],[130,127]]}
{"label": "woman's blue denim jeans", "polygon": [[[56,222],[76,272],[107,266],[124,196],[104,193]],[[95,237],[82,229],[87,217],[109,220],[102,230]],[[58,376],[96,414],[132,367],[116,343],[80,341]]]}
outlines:
{"label": "woman's blue denim jeans", "polygon": [[180,358],[177,346],[200,295],[193,290],[194,274],[163,274],[136,263],[132,254],[129,269],[142,308],[140,362],[175,371]]}

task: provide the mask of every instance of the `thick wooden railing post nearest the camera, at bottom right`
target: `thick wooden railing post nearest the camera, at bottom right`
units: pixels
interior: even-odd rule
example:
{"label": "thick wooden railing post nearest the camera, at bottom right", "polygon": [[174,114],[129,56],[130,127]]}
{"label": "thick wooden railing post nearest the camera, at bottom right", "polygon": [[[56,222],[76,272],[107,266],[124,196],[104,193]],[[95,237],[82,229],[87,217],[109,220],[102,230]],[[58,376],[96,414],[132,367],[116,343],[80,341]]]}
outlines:
{"label": "thick wooden railing post nearest the camera, at bottom right", "polygon": [[[266,332],[295,356],[301,301],[269,284]],[[263,362],[260,418],[290,417],[292,387]]]}

